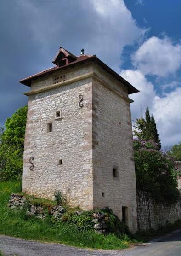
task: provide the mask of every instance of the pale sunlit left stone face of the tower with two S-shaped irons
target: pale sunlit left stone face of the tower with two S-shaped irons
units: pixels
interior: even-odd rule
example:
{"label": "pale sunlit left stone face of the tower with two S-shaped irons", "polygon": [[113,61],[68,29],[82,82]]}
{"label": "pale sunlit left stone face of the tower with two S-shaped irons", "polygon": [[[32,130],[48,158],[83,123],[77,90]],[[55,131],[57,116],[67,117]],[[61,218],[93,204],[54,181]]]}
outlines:
{"label": "pale sunlit left stone face of the tower with two S-shaped irons", "polygon": [[[80,69],[80,74],[83,71],[87,72]],[[79,75],[77,69],[72,76],[75,73]],[[33,89],[44,87],[45,78],[35,84]],[[84,95],[83,108],[79,94]],[[61,112],[60,118],[56,111]],[[50,122],[52,132],[47,133]],[[33,170],[29,169],[30,157],[34,157]],[[61,190],[70,205],[92,209],[92,78],[29,97],[22,190],[48,199]]]}

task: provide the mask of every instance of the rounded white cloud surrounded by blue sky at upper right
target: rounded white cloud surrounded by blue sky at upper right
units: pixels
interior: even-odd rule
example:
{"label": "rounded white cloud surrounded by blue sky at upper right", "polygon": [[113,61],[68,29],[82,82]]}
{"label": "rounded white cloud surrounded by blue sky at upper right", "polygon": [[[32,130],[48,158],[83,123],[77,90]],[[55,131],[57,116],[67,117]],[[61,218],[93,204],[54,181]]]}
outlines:
{"label": "rounded white cloud surrounded by blue sky at upper right", "polygon": [[145,75],[168,76],[181,66],[181,45],[168,37],[152,36],[132,56],[133,64]]}

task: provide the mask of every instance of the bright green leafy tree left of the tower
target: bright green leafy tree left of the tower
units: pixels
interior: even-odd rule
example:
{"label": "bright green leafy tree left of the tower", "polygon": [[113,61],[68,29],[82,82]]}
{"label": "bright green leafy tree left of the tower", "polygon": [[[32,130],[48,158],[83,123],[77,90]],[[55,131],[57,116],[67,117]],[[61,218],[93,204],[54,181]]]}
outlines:
{"label": "bright green leafy tree left of the tower", "polygon": [[27,106],[6,119],[0,132],[0,180],[18,179],[23,168],[24,134]]}

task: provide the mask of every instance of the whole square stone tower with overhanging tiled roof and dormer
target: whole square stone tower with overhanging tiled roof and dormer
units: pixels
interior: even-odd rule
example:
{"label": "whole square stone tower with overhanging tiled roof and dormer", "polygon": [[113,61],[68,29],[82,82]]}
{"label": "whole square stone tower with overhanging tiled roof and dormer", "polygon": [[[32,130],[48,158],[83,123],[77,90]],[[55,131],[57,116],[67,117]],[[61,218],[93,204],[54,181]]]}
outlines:
{"label": "whole square stone tower with overhanging tiled roof and dormer", "polygon": [[68,204],[104,208],[136,231],[136,178],[128,95],[138,90],[96,55],[60,47],[54,67],[20,82],[30,87],[22,190]]}

